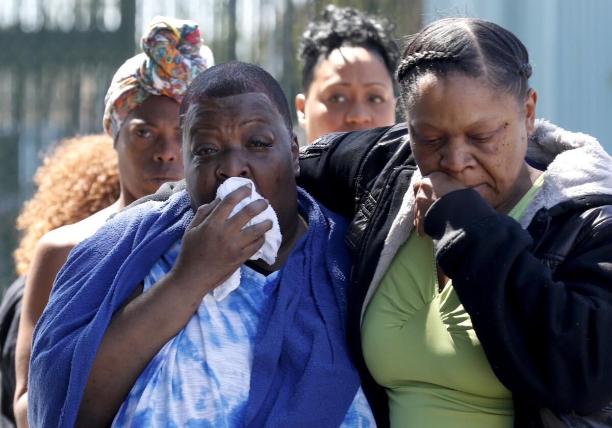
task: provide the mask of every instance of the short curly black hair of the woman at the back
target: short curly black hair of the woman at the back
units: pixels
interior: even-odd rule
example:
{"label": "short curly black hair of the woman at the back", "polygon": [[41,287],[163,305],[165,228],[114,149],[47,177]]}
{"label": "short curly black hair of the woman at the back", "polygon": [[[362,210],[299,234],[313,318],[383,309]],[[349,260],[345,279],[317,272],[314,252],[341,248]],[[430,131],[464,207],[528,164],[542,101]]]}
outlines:
{"label": "short curly black hair of the woman at the back", "polygon": [[319,58],[341,46],[361,46],[378,54],[391,79],[394,78],[399,48],[392,32],[395,24],[384,18],[366,15],[353,7],[325,8],[320,21],[308,24],[300,37],[297,59],[302,61],[302,91],[312,83]]}

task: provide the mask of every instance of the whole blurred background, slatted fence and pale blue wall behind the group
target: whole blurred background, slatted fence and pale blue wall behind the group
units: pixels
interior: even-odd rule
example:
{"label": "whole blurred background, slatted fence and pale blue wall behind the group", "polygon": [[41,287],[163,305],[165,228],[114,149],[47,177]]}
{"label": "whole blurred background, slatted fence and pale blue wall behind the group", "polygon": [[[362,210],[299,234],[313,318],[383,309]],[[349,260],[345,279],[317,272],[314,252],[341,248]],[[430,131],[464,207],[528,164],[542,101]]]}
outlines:
{"label": "whole blurred background, slatted fence and pale blue wall behind the group", "polygon": [[110,79],[140,51],[151,18],[196,21],[215,62],[261,65],[293,108],[297,39],[329,3],[395,21],[398,38],[449,16],[501,24],[529,50],[538,116],[594,135],[612,152],[610,0],[2,0],[0,290],[15,278],[15,218],[42,154],[66,136],[102,131]]}

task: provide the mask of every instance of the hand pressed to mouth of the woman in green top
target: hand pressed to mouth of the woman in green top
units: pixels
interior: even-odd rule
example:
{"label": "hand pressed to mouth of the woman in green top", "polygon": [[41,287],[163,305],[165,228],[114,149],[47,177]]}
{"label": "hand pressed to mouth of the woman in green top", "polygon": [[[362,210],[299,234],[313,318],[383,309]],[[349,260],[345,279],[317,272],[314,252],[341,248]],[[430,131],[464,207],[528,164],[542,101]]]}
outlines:
{"label": "hand pressed to mouth of the woman in green top", "polygon": [[466,186],[458,180],[453,179],[445,172],[432,172],[425,175],[419,182],[414,184],[414,227],[417,228],[419,236],[425,236],[425,214],[431,205],[455,190],[465,189]]}

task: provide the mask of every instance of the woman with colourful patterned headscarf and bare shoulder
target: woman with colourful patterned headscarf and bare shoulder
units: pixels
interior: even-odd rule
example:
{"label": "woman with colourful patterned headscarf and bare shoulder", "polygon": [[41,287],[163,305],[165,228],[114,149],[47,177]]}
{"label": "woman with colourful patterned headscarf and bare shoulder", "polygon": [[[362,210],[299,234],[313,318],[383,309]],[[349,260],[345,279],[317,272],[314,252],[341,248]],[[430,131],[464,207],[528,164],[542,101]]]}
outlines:
{"label": "woman with colourful patterned headscarf and bare shoulder", "polygon": [[17,342],[15,417],[27,426],[28,369],[34,326],[68,254],[108,216],[160,185],[184,177],[179,106],[188,84],[212,63],[193,21],[155,17],[141,39],[143,53],[114,75],[105,97],[103,127],[118,155],[118,200],[83,221],[48,232],[37,243],[28,271]]}

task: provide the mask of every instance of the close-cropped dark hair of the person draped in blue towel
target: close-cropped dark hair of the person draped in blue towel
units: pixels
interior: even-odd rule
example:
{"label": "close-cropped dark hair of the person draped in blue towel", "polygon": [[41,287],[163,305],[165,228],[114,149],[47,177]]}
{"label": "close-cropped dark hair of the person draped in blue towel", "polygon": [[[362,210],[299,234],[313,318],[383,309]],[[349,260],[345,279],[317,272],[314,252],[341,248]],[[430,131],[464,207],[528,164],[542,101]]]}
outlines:
{"label": "close-cropped dark hair of the person draped in blue towel", "polygon": [[270,73],[261,67],[247,62],[223,62],[200,73],[187,88],[181,103],[179,127],[181,141],[185,114],[189,106],[202,100],[224,98],[231,95],[261,92],[267,95],[285,122],[285,127],[291,136],[293,122],[289,104],[282,87]]}

